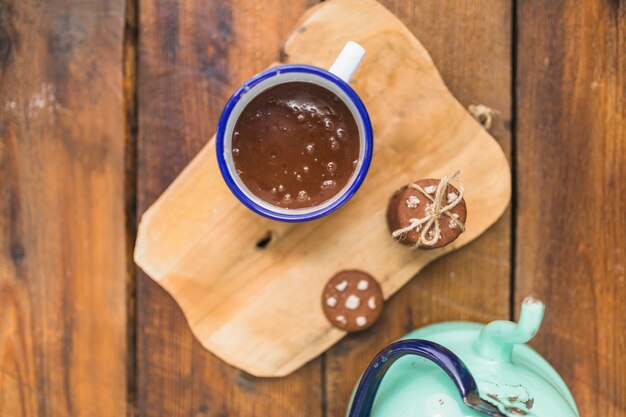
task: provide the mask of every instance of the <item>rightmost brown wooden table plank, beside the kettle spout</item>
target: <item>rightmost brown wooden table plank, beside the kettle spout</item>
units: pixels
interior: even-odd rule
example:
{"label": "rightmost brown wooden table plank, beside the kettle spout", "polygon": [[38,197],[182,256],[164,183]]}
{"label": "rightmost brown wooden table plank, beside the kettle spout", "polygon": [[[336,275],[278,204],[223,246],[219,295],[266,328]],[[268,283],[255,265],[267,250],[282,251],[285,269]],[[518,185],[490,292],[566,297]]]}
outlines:
{"label": "rightmost brown wooden table plank, beside the kettle spout", "polygon": [[626,414],[626,3],[520,1],[516,298],[580,415]]}

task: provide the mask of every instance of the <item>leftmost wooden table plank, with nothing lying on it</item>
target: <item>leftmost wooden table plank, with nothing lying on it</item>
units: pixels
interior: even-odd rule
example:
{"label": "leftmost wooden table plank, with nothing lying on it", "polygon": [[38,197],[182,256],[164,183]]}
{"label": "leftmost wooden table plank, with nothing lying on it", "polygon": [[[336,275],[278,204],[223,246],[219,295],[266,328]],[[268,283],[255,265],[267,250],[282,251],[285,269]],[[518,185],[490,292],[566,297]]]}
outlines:
{"label": "leftmost wooden table plank, with nothing lying on it", "polygon": [[122,1],[0,2],[0,415],[126,414]]}

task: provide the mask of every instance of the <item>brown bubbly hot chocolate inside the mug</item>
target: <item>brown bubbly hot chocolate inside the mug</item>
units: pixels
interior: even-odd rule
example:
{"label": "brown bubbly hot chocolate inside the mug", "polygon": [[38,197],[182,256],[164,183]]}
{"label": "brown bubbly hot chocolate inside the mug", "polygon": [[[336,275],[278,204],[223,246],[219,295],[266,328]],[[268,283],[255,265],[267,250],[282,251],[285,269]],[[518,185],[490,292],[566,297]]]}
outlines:
{"label": "brown bubbly hot chocolate inside the mug", "polygon": [[283,208],[320,205],[348,183],[358,163],[359,129],[346,104],[316,84],[271,87],[243,110],[232,138],[239,177]]}

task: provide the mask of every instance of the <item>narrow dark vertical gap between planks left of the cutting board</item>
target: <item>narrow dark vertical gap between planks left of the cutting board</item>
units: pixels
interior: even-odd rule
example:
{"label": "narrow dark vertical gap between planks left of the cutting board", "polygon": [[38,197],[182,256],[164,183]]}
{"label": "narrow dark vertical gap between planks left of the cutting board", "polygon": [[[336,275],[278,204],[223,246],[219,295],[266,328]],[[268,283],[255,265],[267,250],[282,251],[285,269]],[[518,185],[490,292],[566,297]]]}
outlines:
{"label": "narrow dark vertical gap between planks left of the cutting board", "polygon": [[127,364],[126,402],[128,417],[137,416],[137,332],[136,281],[137,268],[133,261],[137,235],[137,49],[139,34],[139,0],[127,0],[124,16],[124,210],[126,223],[126,311]]}

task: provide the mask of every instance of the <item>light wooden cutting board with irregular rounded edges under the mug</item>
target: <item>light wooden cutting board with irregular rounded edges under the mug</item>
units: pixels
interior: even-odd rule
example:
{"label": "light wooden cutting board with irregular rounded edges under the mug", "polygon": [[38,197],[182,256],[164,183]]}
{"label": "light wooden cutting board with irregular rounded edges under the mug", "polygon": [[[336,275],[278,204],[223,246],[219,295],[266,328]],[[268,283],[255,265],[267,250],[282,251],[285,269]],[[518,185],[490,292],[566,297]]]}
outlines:
{"label": "light wooden cutting board with irregular rounded edges under the mug", "polygon": [[[352,85],[375,135],[371,169],[348,204],[303,224],[260,217],[222,181],[210,140],[139,225],[137,264],[177,301],[203,346],[256,376],[287,375],[345,335],[320,307],[337,271],[369,272],[387,299],[433,259],[483,233],[510,199],[498,144],[377,2],[331,0],[310,9],[285,43],[285,60],[328,68],[348,40],[367,50]],[[456,169],[466,189],[466,232],[432,251],[395,243],[385,222],[394,190]]]}

